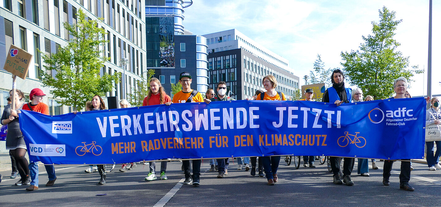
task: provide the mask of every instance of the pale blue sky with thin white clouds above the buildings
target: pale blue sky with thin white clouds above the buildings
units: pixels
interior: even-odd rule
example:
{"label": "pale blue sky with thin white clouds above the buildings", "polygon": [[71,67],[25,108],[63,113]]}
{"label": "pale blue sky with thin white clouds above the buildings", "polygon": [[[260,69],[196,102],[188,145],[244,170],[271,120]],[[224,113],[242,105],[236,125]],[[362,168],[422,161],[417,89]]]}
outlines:
{"label": "pale blue sky with thin white clouds above the buildings", "polygon": [[[402,19],[395,35],[397,48],[415,74],[408,89],[412,96],[427,94],[429,0],[193,0],[184,8],[183,25],[196,35],[236,29],[265,48],[288,59],[300,78],[313,70],[317,55],[325,68],[341,66],[340,52],[359,49],[362,35],[372,34],[378,10],[387,7]],[[433,1],[432,94],[441,94],[441,1]]]}

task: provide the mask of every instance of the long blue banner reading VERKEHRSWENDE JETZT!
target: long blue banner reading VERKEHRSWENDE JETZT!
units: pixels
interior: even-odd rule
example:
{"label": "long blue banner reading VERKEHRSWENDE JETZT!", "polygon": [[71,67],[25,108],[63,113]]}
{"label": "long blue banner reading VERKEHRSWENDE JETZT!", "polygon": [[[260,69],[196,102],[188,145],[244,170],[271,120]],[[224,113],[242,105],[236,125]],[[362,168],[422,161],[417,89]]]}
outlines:
{"label": "long blue banner reading VERKEHRSWENDE JETZT!", "polygon": [[31,162],[113,164],[167,158],[328,155],[422,159],[422,98],[351,104],[223,101],[58,116],[22,111]]}

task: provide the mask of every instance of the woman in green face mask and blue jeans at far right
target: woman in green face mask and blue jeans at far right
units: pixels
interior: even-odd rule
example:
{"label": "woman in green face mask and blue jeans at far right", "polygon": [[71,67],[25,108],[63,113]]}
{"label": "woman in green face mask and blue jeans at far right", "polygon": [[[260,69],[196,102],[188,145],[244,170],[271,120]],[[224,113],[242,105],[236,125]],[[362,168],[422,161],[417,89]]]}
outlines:
{"label": "woman in green face mask and blue jeans at far right", "polygon": [[[441,123],[440,101],[438,100],[438,97],[433,97],[432,100],[430,100],[430,103],[432,106],[426,112],[426,126],[436,124],[439,127]],[[435,155],[434,142],[437,145]],[[426,160],[429,170],[441,169],[441,165],[438,164],[441,152],[441,141],[426,141],[426,146]]]}

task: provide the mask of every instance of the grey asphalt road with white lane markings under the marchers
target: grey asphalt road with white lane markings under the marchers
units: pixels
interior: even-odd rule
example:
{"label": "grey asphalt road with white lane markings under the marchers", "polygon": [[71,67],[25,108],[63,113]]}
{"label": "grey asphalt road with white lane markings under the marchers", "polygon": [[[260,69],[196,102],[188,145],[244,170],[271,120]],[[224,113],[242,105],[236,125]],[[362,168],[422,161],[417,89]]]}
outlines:
{"label": "grey asphalt road with white lane markings under the marchers", "polygon": [[[302,161],[303,165],[303,161]],[[265,178],[251,176],[250,172],[236,170],[230,162],[228,175],[217,179],[210,172],[208,160],[202,163],[201,185],[181,185],[183,172],[180,162],[170,162],[168,180],[144,181],[148,165],[138,165],[134,170],[118,172],[118,167],[107,175],[106,185],[96,185],[99,174],[84,173],[86,166],[56,166],[55,185],[45,187],[48,181],[44,167],[40,166],[40,188],[26,192],[27,186],[15,186],[17,179],[9,179],[10,172],[0,183],[0,206],[441,206],[440,170],[429,171],[425,164],[413,163],[410,185],[415,192],[399,189],[398,174],[392,173],[391,185],[382,185],[382,170],[371,170],[370,177],[356,174],[357,161],[352,173],[354,186],[334,185],[326,165],[317,168],[301,167],[295,170],[281,160],[276,185],[266,185]],[[377,162],[379,167],[382,162]],[[160,163],[157,163],[159,170]],[[400,162],[393,170],[399,171]],[[159,174],[159,172],[158,172]],[[106,196],[95,196],[107,193]],[[175,193],[175,194],[173,194]],[[167,195],[167,196],[166,196]],[[159,202],[159,203],[158,203]]]}

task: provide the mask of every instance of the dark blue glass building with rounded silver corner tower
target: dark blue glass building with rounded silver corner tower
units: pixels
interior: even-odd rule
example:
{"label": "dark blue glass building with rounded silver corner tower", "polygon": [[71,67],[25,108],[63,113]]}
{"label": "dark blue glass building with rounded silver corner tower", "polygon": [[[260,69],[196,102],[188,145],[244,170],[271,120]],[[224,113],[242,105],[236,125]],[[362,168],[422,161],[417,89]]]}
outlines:
{"label": "dark blue glass building with rounded silver corner tower", "polygon": [[165,91],[173,96],[171,85],[179,74],[192,76],[193,89],[208,89],[206,38],[184,29],[184,8],[191,0],[146,0],[147,69],[155,70]]}

